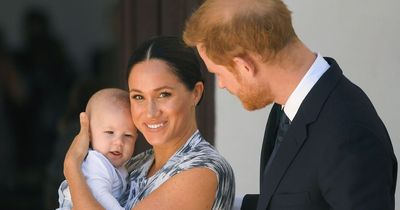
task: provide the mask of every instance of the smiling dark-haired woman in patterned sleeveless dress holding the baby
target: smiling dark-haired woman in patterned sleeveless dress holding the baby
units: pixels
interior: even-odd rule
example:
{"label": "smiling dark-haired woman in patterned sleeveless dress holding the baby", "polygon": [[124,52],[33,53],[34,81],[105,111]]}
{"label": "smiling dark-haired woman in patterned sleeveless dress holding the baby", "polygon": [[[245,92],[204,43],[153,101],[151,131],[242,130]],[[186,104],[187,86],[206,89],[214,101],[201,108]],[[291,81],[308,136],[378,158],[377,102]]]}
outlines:
{"label": "smiling dark-haired woman in patterned sleeveless dress holding the baby", "polygon": [[[235,186],[228,162],[197,129],[196,106],[204,90],[193,49],[174,37],[143,43],[129,62],[132,119],[152,149],[128,163],[126,209],[231,209]],[[88,122],[64,162],[74,209],[101,209],[80,165],[89,144]]]}

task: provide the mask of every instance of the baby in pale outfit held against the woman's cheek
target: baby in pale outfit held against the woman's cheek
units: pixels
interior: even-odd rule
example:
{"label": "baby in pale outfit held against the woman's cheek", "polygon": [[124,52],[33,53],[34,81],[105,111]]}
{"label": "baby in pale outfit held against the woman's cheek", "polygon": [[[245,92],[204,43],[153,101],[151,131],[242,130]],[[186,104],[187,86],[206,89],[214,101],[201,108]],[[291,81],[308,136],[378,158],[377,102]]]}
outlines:
{"label": "baby in pale outfit held against the woman's cheek", "polygon": [[[82,163],[86,182],[105,209],[123,209],[121,199],[128,175],[125,163],[132,157],[137,137],[129,94],[116,88],[102,89],[89,99],[86,114],[92,148]],[[58,194],[59,209],[72,209],[66,180],[61,183]]]}

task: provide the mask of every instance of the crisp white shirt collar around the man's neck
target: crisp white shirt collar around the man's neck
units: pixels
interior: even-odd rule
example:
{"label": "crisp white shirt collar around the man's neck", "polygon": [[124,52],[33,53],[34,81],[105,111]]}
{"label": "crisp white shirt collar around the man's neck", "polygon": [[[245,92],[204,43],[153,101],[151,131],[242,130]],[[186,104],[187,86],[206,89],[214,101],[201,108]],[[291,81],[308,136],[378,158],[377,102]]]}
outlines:
{"label": "crisp white shirt collar around the man's neck", "polygon": [[289,96],[286,104],[282,106],[290,121],[293,121],[304,98],[329,67],[330,65],[328,62],[326,62],[321,54],[318,53],[317,58],[307,71],[306,75],[304,75],[296,89]]}

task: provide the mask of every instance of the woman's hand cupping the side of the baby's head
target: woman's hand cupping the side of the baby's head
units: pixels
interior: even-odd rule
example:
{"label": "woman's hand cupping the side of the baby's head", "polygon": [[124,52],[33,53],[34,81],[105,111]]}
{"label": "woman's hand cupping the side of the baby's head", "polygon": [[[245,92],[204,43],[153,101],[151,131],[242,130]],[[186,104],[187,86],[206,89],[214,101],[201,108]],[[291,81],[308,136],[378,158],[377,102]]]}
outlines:
{"label": "woman's hand cupping the side of the baby's head", "polygon": [[68,179],[69,175],[74,174],[75,170],[82,165],[89,149],[89,119],[85,112],[80,114],[81,130],[69,147],[64,159],[64,175]]}

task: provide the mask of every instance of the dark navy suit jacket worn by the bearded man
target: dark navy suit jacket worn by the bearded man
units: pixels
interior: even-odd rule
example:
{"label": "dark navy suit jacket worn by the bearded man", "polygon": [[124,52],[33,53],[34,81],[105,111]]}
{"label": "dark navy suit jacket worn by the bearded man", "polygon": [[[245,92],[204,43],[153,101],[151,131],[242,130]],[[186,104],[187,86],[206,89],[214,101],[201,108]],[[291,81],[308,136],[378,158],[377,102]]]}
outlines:
{"label": "dark navy suit jacket worn by the bearded man", "polygon": [[336,61],[302,102],[278,153],[274,105],[261,154],[260,195],[242,209],[393,210],[397,161],[384,124],[365,93]]}

